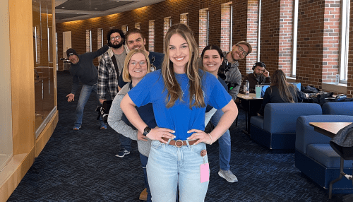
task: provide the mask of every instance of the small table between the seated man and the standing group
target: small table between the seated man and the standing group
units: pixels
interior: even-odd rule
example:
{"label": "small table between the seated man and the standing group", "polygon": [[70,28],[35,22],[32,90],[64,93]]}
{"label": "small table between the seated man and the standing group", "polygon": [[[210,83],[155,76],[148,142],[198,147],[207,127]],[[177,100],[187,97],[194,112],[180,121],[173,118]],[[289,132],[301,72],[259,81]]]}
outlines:
{"label": "small table between the seated man and the standing group", "polygon": [[263,103],[263,98],[256,98],[255,93],[249,93],[249,95],[239,93],[236,102],[243,105],[245,111],[247,112],[245,130],[243,130],[243,132],[250,135],[250,118],[253,115],[251,114],[251,107],[254,107],[253,109],[260,109]]}

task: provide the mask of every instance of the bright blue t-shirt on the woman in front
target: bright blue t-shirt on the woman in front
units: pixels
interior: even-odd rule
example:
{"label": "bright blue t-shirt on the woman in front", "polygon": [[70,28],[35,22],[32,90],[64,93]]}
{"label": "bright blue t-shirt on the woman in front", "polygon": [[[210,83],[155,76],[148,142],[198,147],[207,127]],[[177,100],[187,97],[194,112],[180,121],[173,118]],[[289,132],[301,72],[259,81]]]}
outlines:
{"label": "bright blue t-shirt on the woman in front", "polygon": [[[205,105],[222,109],[232,97],[217,78],[210,73],[200,71]],[[167,90],[160,70],[148,73],[132,90],[128,92],[137,107],[152,103],[157,126],[175,131],[176,140],[186,140],[191,129],[205,129],[206,107],[189,107],[189,78],[186,74],[176,74],[177,81],[184,92],[183,99],[177,100],[173,107],[166,107]]]}

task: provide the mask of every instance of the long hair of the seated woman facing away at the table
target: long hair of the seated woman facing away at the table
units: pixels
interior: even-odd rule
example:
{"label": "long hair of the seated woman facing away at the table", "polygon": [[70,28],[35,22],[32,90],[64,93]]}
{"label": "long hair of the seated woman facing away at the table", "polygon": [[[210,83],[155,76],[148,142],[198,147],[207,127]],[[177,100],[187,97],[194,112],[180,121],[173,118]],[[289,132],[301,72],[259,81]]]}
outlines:
{"label": "long hair of the seated woman facing away at the table", "polygon": [[292,93],[290,93],[289,88],[292,88],[294,90],[294,96],[297,96],[297,87],[286,81],[285,73],[282,70],[277,69],[273,72],[270,86],[277,86],[282,100],[294,102],[294,97]]}

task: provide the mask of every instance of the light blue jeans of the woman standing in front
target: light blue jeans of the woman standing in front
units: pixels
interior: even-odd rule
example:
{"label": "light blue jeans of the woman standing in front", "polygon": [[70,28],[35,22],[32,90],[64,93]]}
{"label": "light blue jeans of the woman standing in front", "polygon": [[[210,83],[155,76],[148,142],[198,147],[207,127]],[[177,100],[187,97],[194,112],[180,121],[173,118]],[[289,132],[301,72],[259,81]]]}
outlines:
{"label": "light blue jeans of the woman standing in front", "polygon": [[[147,164],[152,201],[175,202],[178,185],[180,201],[204,201],[208,182],[200,182],[200,166],[208,163],[208,155],[201,156],[201,151],[205,149],[205,143],[188,143],[177,148],[152,141]],[[207,174],[209,176],[210,172]]]}

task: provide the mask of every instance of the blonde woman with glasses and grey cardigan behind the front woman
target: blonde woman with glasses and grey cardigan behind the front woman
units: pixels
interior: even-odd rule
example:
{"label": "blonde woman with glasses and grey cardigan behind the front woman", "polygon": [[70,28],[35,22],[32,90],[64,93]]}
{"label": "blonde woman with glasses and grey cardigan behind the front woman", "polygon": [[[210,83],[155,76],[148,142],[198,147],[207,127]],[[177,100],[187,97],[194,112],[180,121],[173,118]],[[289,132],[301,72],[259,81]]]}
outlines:
{"label": "blonde woman with glasses and grey cardigan behind the front woman", "polygon": [[[145,51],[134,49],[129,52],[126,55],[124,69],[122,72],[124,81],[128,83],[126,83],[126,85],[121,88],[112,102],[112,107],[109,110],[108,124],[112,127],[112,129],[121,135],[137,141],[138,151],[140,152],[140,160],[145,177],[146,190],[144,191],[147,191],[147,201],[151,201],[150,188],[148,186],[146,173],[146,165],[148,161],[148,155],[150,153],[151,140],[143,136],[140,131],[138,131],[132,124],[130,124],[120,108],[120,102],[123,97],[128,93],[129,90],[134,88],[147,73],[150,73],[150,61]],[[140,117],[143,119],[145,124],[147,124],[151,129],[157,126],[155,122],[155,116],[153,114],[152,104],[138,107],[137,112],[140,114]]]}

